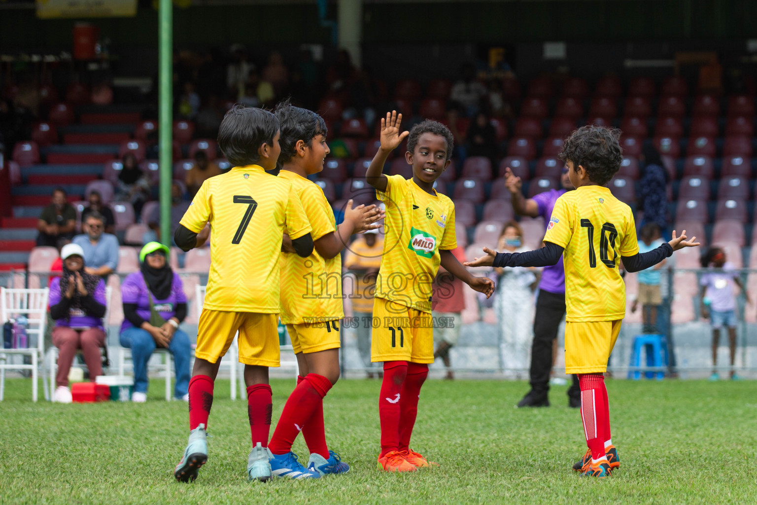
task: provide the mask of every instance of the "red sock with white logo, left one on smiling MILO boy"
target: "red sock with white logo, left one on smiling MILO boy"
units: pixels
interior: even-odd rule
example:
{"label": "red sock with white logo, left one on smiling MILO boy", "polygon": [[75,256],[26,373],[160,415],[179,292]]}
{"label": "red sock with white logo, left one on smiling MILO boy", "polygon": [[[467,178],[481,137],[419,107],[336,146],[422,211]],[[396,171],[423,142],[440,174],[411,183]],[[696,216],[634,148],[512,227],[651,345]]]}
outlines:
{"label": "red sock with white logo, left one on smiling MILO boy", "polygon": [[407,376],[407,361],[385,361],[384,381],[378,396],[378,419],[381,421],[381,454],[400,447],[400,398]]}

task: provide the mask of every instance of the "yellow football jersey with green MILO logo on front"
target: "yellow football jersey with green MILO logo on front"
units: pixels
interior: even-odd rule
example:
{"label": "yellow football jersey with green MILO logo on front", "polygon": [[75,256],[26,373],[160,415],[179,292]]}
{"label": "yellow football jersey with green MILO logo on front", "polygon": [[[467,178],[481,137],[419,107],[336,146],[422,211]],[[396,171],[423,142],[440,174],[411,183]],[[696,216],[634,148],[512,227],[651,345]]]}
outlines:
{"label": "yellow football jersey with green MILO logo on front", "polygon": [[376,192],[386,218],[375,296],[430,313],[439,250],[457,247],[455,204],[436,190],[428,194],[413,179],[387,179],[386,191]]}

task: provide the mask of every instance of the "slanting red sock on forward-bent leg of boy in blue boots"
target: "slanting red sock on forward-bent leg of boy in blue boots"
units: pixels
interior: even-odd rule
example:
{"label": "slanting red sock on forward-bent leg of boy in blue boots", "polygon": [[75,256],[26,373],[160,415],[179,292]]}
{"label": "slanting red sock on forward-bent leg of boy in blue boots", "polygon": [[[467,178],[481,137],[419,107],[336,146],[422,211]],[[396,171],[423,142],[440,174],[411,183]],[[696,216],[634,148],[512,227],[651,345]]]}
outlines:
{"label": "slanting red sock on forward-bent leg of boy in blue boots", "polygon": [[[331,389],[332,383],[324,376],[309,373],[300,381],[289,395],[284,411],[276,424],[268,448],[273,454],[285,454],[291,450],[291,444],[310,420],[310,416],[322,404],[323,397]],[[326,451],[328,453],[328,450]]]}

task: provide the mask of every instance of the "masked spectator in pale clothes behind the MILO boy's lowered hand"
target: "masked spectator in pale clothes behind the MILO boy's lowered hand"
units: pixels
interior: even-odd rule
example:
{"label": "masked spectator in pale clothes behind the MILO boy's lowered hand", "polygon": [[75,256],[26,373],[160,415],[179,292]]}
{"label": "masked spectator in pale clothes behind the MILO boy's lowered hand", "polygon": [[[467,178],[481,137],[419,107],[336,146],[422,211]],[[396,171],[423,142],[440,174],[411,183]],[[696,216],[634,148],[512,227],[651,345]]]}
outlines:
{"label": "masked spectator in pale clothes behind the MILO boy's lowered hand", "polygon": [[[518,223],[505,225],[497,251],[509,253],[528,251],[523,245],[523,232]],[[500,323],[500,346],[503,368],[520,378],[526,375],[529,365],[534,324],[534,290],[538,278],[537,269],[495,268],[499,276],[494,307]]]}

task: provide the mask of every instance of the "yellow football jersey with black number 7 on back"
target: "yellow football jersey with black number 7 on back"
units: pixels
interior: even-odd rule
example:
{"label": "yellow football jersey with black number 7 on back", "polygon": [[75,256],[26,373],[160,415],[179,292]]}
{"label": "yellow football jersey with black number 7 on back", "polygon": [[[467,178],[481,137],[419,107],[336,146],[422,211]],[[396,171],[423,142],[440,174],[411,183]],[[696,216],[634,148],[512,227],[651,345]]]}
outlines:
{"label": "yellow football jersey with black number 7 on back", "polygon": [[202,183],[181,224],[200,232],[210,221],[210,275],[204,307],[279,312],[282,235],[310,232],[291,182],[257,165],[234,167]]}

